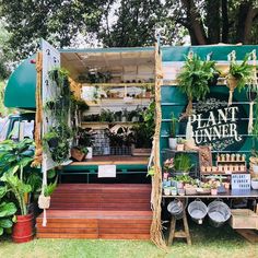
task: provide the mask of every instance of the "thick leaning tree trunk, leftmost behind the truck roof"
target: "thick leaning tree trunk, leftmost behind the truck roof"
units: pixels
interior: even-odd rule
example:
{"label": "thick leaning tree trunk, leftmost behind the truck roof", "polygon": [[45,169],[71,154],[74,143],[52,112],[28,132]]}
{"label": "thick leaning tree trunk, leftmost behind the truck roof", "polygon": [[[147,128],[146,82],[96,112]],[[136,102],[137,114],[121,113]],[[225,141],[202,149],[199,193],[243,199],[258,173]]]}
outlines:
{"label": "thick leaning tree trunk, leftmost behind the truck roof", "polygon": [[186,9],[187,21],[188,21],[188,31],[191,37],[192,45],[206,45],[207,37],[201,21],[201,16],[198,13],[197,8],[192,0],[181,0],[183,7]]}

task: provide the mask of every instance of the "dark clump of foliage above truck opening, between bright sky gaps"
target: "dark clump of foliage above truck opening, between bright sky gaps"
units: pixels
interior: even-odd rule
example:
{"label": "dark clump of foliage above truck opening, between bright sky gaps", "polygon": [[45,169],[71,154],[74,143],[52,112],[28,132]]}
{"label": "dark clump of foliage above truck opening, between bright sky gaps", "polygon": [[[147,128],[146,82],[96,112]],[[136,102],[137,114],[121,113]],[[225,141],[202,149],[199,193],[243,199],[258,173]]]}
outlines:
{"label": "dark clump of foliage above truck opening, between bright sky gaps", "polygon": [[165,13],[161,0],[121,0],[115,12],[116,22],[105,25],[98,38],[108,47],[137,47],[153,45],[154,32]]}

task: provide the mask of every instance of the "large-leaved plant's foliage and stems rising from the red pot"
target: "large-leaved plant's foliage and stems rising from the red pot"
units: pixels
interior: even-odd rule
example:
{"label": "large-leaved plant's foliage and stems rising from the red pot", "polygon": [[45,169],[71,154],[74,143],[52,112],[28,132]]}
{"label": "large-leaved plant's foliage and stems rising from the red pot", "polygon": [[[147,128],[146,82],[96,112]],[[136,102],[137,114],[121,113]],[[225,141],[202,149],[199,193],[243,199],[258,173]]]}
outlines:
{"label": "large-leaved plant's foliage and stems rising from the red pot", "polygon": [[7,140],[0,144],[0,180],[5,185],[7,191],[13,194],[22,215],[27,214],[25,195],[32,190],[38,191],[42,185],[39,169],[31,167],[33,156],[33,140]]}

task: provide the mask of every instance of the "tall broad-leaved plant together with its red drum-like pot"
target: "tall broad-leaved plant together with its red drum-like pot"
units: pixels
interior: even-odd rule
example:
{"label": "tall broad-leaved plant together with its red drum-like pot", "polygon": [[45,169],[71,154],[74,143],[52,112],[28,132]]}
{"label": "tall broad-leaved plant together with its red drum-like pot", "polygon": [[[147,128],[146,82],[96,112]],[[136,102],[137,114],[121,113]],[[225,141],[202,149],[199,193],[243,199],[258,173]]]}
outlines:
{"label": "tall broad-leaved plant together with its red drum-like pot", "polygon": [[5,185],[7,191],[11,192],[16,200],[17,215],[13,226],[13,241],[23,243],[31,241],[33,237],[33,214],[28,213],[30,198],[32,186],[26,181],[32,181],[32,173],[27,167],[33,162],[34,149],[33,141],[25,139],[21,142],[7,140],[1,142],[1,176],[2,184]]}

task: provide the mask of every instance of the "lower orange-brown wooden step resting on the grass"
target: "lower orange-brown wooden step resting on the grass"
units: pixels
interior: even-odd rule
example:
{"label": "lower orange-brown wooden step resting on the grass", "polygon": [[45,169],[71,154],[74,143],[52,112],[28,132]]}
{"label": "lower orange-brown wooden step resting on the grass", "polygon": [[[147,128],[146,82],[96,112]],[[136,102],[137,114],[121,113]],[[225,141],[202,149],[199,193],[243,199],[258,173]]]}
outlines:
{"label": "lower orange-brown wooden step resting on the grass", "polygon": [[37,218],[38,238],[149,239],[151,211],[47,211]]}

